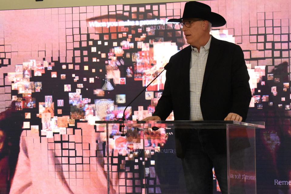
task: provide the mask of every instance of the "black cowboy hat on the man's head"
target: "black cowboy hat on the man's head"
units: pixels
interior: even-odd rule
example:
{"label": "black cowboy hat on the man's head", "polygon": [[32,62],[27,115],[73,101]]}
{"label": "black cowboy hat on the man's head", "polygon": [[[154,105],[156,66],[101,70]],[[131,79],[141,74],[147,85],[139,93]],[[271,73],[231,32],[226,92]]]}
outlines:
{"label": "black cowboy hat on the man's head", "polygon": [[185,4],[182,18],[169,19],[168,22],[182,22],[185,18],[200,18],[211,22],[212,27],[219,27],[226,24],[225,19],[214,12],[211,12],[209,5],[197,1],[189,1]]}

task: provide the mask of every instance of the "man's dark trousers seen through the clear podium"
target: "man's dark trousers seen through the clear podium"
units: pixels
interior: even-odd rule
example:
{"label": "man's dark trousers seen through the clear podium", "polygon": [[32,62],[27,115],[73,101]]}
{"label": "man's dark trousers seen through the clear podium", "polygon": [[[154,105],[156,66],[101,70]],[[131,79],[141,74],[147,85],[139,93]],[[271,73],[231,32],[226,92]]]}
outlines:
{"label": "man's dark trousers seen through the clear podium", "polygon": [[[227,193],[227,158],[225,152],[217,152],[209,135],[211,131],[191,129],[182,165],[186,187],[190,194],[212,194],[213,175],[216,174],[222,194]],[[196,131],[195,131],[196,130]],[[215,130],[215,129],[212,129]],[[226,142],[222,141],[222,144]]]}

